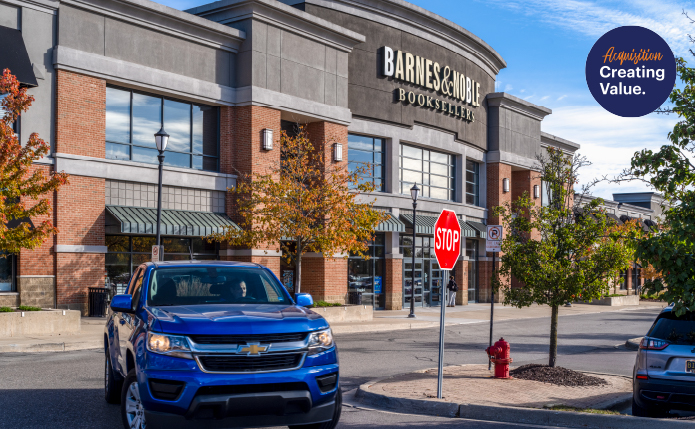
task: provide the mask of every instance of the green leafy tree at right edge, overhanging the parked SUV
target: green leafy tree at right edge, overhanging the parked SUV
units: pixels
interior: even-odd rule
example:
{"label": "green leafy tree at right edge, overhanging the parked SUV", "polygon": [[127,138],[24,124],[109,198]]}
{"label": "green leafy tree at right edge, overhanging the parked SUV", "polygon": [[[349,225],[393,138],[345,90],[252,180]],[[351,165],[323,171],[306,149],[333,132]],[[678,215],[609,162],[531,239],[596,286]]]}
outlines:
{"label": "green leafy tree at right edge, overhanging the parked SUV", "polygon": [[663,299],[683,315],[695,310],[695,70],[682,58],[676,66],[683,88],[675,88],[669,96],[672,106],[661,110],[679,118],[668,133],[669,144],[656,152],[636,152],[619,180],[643,180],[664,196],[664,228],[641,241],[636,255],[660,273],[644,289],[663,291]]}

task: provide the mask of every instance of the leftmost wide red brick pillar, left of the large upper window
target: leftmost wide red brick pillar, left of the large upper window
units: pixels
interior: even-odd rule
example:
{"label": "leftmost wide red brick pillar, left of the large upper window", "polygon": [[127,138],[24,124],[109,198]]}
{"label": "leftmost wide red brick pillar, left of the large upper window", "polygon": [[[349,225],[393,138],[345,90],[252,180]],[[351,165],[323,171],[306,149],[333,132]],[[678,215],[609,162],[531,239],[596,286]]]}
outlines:
{"label": "leftmost wide red brick pillar, left of the large upper window", "polygon": [[[106,82],[64,70],[56,75],[58,153],[104,158]],[[58,308],[87,312],[87,288],[103,287],[105,180],[73,175],[56,194]]]}

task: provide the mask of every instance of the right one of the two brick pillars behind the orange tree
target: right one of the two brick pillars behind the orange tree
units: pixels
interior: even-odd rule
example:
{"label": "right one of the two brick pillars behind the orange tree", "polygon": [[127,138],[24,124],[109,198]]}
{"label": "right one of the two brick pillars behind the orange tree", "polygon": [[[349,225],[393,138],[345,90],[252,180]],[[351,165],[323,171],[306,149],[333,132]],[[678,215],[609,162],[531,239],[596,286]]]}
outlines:
{"label": "right one of the two brick pillars behind the orange tree", "polygon": [[[347,168],[347,127],[331,122],[312,122],[306,126],[314,149],[322,151],[326,167]],[[333,161],[333,143],[343,144],[343,161]],[[347,259],[322,258],[312,254],[302,258],[302,292],[311,293],[314,299],[345,303],[347,299]]]}

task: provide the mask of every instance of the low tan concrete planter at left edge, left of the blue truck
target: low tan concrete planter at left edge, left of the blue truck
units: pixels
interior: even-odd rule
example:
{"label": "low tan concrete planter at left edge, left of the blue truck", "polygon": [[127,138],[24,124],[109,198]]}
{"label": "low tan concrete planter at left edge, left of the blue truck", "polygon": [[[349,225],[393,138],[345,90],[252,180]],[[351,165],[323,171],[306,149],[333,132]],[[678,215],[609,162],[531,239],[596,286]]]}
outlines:
{"label": "low tan concrete planter at left edge, left of the blue truck", "polygon": [[78,332],[80,332],[80,312],[77,310],[0,313],[0,338]]}

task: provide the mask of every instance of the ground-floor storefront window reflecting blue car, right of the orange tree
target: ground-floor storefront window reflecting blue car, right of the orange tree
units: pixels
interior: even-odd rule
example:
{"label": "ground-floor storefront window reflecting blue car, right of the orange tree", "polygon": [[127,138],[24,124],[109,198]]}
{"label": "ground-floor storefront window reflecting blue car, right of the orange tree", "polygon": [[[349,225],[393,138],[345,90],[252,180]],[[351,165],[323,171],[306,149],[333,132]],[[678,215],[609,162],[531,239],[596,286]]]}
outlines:
{"label": "ground-floor storefront window reflecting blue car, right of the orange tree", "polygon": [[357,255],[348,259],[348,293],[362,293],[362,304],[386,306],[384,295],[385,236],[377,233],[369,243],[369,260]]}

